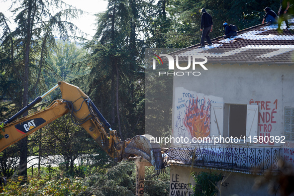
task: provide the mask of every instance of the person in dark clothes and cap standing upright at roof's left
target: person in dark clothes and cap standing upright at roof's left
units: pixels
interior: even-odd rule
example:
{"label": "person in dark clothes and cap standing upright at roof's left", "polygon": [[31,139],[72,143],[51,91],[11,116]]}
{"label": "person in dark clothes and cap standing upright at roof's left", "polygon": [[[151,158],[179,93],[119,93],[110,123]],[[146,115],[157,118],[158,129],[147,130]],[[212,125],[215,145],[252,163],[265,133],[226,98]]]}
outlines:
{"label": "person in dark clothes and cap standing upright at roof's left", "polygon": [[204,41],[206,39],[208,46],[212,46],[210,37],[209,37],[209,32],[212,31],[212,17],[209,13],[206,12],[205,8],[201,9],[202,15],[201,15],[201,24],[200,24],[200,31],[202,31],[201,34],[201,46],[198,48],[204,48]]}

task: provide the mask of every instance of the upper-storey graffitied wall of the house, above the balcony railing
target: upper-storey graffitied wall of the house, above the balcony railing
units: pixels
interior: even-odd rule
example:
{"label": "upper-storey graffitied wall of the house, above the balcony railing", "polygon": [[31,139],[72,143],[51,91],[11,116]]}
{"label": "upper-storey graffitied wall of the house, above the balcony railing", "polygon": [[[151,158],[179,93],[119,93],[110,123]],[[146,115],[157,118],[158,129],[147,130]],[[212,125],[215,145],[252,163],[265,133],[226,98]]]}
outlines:
{"label": "upper-storey graffitied wall of the house, above the balcony railing", "polygon": [[[189,122],[184,117],[189,108],[183,104],[191,95],[204,99],[206,108],[209,106],[208,100],[223,104],[258,104],[258,136],[283,135],[284,108],[294,107],[294,66],[205,64],[205,67],[207,70],[201,70],[200,76],[186,74],[174,77],[172,136],[186,134],[189,138],[193,137],[187,125]],[[202,117],[204,115],[201,119]],[[227,121],[226,116],[224,120]],[[198,125],[204,127],[205,120]],[[222,126],[223,135],[228,136],[226,123]],[[209,131],[203,135],[208,134]],[[281,142],[263,142],[257,145],[283,146]]]}

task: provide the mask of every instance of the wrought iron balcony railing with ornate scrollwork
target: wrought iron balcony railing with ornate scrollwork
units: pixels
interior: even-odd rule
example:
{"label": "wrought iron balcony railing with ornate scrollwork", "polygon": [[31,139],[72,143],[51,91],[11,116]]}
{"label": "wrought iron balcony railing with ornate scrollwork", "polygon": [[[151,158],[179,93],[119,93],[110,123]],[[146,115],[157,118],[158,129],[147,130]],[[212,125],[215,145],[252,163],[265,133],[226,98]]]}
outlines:
{"label": "wrought iron balcony railing with ornate scrollwork", "polygon": [[226,147],[213,144],[181,145],[164,153],[165,165],[172,163],[238,171],[279,171],[282,150],[273,147]]}

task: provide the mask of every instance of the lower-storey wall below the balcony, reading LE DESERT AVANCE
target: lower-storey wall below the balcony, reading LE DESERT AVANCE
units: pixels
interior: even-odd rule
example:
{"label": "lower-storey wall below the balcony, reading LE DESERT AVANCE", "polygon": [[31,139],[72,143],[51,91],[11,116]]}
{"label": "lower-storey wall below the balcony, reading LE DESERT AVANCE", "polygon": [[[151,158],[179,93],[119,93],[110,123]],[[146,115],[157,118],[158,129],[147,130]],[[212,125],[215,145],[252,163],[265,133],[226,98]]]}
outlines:
{"label": "lower-storey wall below the balcony, reading LE DESERT AVANCE", "polygon": [[270,196],[267,185],[258,189],[253,188],[260,176],[177,165],[171,166],[170,196],[191,196],[193,191],[190,185],[195,185],[191,173],[201,171],[222,173],[225,180],[217,186],[218,196]]}

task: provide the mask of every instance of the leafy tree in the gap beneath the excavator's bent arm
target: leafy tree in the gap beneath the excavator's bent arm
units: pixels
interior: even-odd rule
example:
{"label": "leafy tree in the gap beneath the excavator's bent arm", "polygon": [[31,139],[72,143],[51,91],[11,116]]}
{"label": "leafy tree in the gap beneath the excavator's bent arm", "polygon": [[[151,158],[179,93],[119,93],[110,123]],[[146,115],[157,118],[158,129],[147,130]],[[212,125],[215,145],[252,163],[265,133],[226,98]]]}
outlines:
{"label": "leafy tree in the gap beneath the excavator's bent arm", "polygon": [[[62,116],[43,128],[42,155],[59,155],[59,170],[65,177],[85,177],[93,168],[100,169],[110,162],[94,139],[71,121],[70,115]],[[78,161],[79,165],[75,162]]]}

